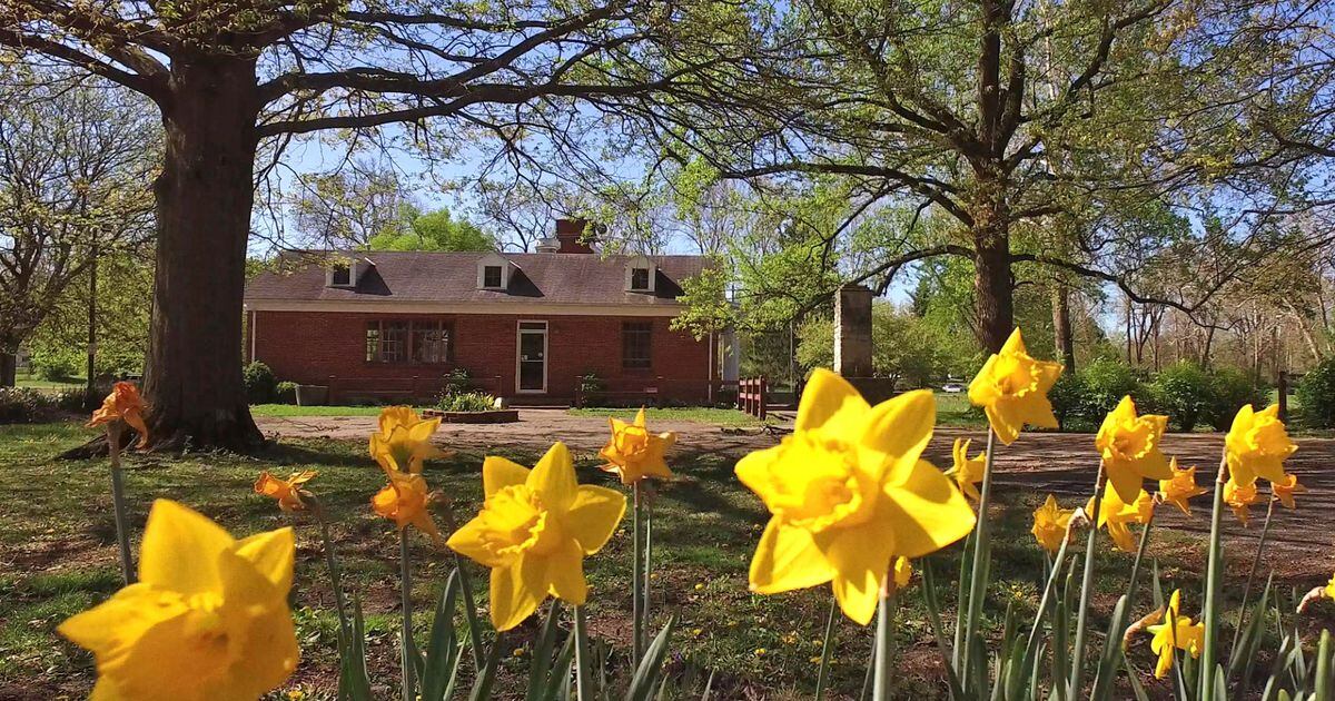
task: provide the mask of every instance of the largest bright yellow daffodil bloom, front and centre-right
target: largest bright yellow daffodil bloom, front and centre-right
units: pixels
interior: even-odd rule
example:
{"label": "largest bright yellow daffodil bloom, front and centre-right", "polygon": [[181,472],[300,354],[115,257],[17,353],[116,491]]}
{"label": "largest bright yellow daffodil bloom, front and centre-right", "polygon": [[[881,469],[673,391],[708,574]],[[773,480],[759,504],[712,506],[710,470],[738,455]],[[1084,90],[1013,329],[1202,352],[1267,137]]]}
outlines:
{"label": "largest bright yellow daffodil bloom, front and centre-right", "polygon": [[833,581],[844,614],[866,625],[896,557],[922,557],[973,529],[969,502],[920,458],[936,405],[926,390],[874,407],[817,370],[793,434],[737,463],[773,514],[750,565],[760,594]]}

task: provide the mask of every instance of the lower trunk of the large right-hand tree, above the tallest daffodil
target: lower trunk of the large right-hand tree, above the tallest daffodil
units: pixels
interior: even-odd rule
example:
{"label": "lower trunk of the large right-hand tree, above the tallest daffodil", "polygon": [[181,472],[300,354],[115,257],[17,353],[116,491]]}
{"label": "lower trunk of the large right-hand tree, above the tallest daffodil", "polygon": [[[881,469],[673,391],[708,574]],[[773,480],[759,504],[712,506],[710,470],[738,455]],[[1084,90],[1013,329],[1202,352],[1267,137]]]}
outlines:
{"label": "lower trunk of the large right-hand tree, above the tallest daffodil", "polygon": [[979,342],[988,353],[997,353],[1015,330],[1011,231],[1004,203],[992,200],[975,211],[973,251]]}

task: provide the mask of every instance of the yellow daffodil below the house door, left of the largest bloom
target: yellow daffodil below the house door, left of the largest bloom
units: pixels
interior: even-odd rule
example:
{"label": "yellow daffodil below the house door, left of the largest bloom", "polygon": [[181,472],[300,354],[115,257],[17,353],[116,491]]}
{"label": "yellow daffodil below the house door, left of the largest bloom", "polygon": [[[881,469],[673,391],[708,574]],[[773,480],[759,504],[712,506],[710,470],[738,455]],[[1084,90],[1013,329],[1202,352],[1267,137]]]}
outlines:
{"label": "yellow daffodil below the house door, left of the largest bloom", "polygon": [[551,594],[583,605],[583,558],[602,549],[626,513],[619,491],[579,485],[565,443],[529,470],[482,463],[482,513],[450,537],[455,551],[491,567],[491,622],[509,630]]}

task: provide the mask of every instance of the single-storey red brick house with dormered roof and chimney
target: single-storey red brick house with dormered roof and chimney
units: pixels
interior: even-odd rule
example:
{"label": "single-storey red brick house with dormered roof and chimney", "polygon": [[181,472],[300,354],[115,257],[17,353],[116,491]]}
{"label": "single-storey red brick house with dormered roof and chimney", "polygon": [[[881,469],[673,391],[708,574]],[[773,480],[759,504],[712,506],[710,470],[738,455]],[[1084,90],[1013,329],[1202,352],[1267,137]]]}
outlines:
{"label": "single-storey red brick house with dormered roof and chimney", "polygon": [[559,220],[535,254],[292,252],[246,286],[246,357],[330,402],[429,399],[454,369],[515,405],[704,403],[717,339],[669,323],[706,259],[595,254]]}

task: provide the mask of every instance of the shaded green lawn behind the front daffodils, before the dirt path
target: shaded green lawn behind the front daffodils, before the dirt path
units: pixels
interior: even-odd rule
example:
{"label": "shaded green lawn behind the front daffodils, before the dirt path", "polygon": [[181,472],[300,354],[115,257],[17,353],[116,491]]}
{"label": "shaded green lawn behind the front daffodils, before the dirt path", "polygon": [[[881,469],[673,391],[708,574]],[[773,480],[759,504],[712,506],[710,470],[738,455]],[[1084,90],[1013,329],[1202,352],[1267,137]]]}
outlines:
{"label": "shaded green lawn behind the front daffodils, before the dirt path", "polygon": [[[91,657],[61,641],[53,630],[68,616],[119,588],[108,474],[104,461],[49,458],[89,435],[89,430],[76,423],[0,426],[0,562],[5,563],[0,570],[0,697],[5,696],[7,685],[47,698],[81,697],[92,682]],[[537,455],[514,451],[506,457],[531,465]],[[618,486],[597,469],[594,455],[582,454],[577,459],[581,482]],[[481,461],[482,455],[458,453],[427,466],[431,486],[454,499],[461,519],[470,518],[479,507]],[[673,641],[680,657],[674,657],[673,670],[697,680],[706,669],[716,670],[716,698],[810,697],[829,589],[772,597],[748,592],[748,563],[768,514],[736,481],[733,463],[732,455],[693,457],[674,463],[678,479],[658,489],[653,610],[659,621],[669,614],[680,617],[680,633]],[[376,518],[367,505],[383,477],[366,455],[363,441],[284,441],[259,457],[131,455],[125,483],[134,530],[138,535],[156,498],[184,502],[236,535],[295,525],[298,571],[292,600],[303,661],[290,688],[300,688],[312,698],[332,698],[336,622],[316,529],[306,515],[288,518],[275,503],[251,493],[260,470],[286,475],[300,469],[320,473],[310,489],[320,495],[335,521],[346,586],[367,610],[372,676],[392,686],[398,669],[396,537],[392,526]],[[1037,499],[1037,494],[1003,495],[996,511],[1000,521],[993,539],[995,582],[987,606],[992,625],[1008,604],[1023,618],[1037,602],[1045,559],[1028,534],[1029,514]],[[414,600],[418,612],[423,612],[417,624],[418,633],[425,636],[429,626],[425,612],[443,586],[451,559],[423,538],[414,538],[414,543],[418,555]],[[1161,541],[1156,535],[1155,543],[1165,547],[1160,569],[1168,583],[1195,588],[1197,575],[1188,563],[1203,559],[1199,543],[1167,533]],[[1079,545],[1072,549],[1079,550]],[[953,546],[932,557],[941,579],[937,593],[947,605],[955,600],[959,550]],[[591,590],[590,630],[595,638],[615,646],[621,654],[615,658],[618,664],[623,664],[630,636],[629,555],[630,535],[623,523],[609,546],[585,563]],[[1125,586],[1131,558],[1100,550],[1097,561],[1100,594],[1095,602],[1105,613]],[[485,598],[485,573],[474,566],[470,575]],[[921,586],[918,577],[900,600],[897,645],[902,662],[897,693],[936,698],[943,690],[941,666]],[[531,645],[535,629],[537,622],[530,621],[506,634],[505,645],[518,650],[518,656],[507,653],[509,689],[527,669],[523,650]],[[1103,629],[1104,624],[1096,622],[1095,630]],[[856,698],[870,629],[841,620],[837,634],[834,689],[840,697]],[[1147,654],[1133,652],[1141,669],[1149,664]],[[378,697],[388,698],[391,693],[386,689]]]}

